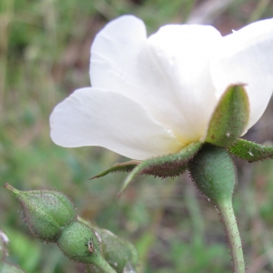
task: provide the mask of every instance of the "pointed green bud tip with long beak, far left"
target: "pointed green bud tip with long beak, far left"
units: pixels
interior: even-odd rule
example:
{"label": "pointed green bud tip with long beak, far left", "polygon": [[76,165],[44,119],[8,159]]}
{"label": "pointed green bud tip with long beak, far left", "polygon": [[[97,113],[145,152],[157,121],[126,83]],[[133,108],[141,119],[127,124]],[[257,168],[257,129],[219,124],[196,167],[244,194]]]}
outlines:
{"label": "pointed green bud tip with long beak, far left", "polygon": [[63,193],[56,190],[20,191],[8,184],[20,201],[28,228],[35,237],[55,242],[62,229],[76,219],[74,204]]}

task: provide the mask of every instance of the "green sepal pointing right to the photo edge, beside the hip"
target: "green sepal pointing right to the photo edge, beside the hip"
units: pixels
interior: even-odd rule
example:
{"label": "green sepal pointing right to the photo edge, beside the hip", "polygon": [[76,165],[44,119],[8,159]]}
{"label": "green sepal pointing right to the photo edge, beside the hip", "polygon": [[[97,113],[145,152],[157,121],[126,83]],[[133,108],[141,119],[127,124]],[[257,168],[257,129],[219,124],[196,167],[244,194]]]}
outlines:
{"label": "green sepal pointing right to the photo edge, beside the hip", "polygon": [[248,162],[273,158],[272,145],[260,145],[245,139],[238,139],[238,142],[229,147],[228,151],[236,157],[248,160]]}

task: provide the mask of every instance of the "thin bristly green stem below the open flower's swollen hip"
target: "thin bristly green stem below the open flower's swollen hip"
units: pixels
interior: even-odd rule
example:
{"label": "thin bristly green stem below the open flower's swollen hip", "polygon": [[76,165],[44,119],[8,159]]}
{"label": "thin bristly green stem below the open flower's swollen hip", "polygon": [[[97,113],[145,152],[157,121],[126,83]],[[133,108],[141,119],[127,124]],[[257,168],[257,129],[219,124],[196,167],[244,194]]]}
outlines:
{"label": "thin bristly green stem below the open flower's swollen hip", "polygon": [[238,232],[237,220],[234,215],[232,201],[225,200],[217,205],[220,217],[226,227],[227,239],[231,249],[234,273],[245,273],[244,254]]}

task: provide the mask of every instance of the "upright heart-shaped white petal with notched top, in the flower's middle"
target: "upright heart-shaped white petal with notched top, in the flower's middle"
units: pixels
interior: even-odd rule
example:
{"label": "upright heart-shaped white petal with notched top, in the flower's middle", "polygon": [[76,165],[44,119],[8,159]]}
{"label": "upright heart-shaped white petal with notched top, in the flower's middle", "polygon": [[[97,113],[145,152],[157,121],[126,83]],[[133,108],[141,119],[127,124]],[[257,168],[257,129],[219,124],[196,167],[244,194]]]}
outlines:
{"label": "upright heart-shaped white petal with notched top, in the flower's middle", "polygon": [[197,141],[216,104],[208,59],[219,37],[213,27],[168,25],[147,39],[142,21],[122,16],[96,35],[92,86],[136,99],[181,143]]}

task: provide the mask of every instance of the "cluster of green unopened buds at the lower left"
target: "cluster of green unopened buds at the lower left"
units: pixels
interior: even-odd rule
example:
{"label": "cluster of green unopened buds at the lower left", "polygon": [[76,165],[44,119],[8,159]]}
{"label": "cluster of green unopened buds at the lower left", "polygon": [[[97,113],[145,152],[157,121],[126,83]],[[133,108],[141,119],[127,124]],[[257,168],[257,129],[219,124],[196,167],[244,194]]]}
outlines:
{"label": "cluster of green unopened buds at the lower left", "polygon": [[20,191],[8,184],[5,187],[21,203],[24,220],[35,237],[56,243],[67,258],[95,265],[101,272],[109,273],[122,273],[128,265],[136,266],[137,254],[133,245],[77,217],[76,207],[63,193],[56,190]]}

